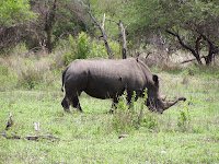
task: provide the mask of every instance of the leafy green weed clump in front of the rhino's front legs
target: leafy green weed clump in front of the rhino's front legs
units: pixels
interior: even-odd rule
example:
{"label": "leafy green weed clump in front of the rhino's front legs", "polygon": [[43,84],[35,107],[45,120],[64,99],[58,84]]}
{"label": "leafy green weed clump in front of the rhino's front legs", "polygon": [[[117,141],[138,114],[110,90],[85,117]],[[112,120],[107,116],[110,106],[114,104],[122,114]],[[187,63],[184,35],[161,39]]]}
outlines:
{"label": "leafy green weed clump in front of the rhino's front legs", "polygon": [[117,104],[116,112],[113,116],[113,128],[118,133],[138,130],[140,127],[146,129],[155,129],[158,127],[157,114],[148,112],[145,97],[136,102],[136,93],[131,97],[131,103],[127,104],[127,92],[125,92]]}

